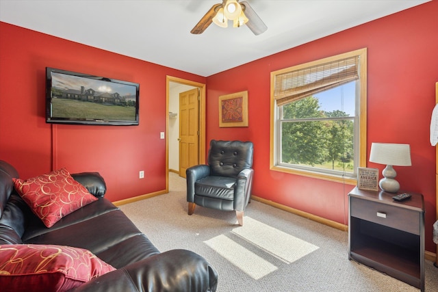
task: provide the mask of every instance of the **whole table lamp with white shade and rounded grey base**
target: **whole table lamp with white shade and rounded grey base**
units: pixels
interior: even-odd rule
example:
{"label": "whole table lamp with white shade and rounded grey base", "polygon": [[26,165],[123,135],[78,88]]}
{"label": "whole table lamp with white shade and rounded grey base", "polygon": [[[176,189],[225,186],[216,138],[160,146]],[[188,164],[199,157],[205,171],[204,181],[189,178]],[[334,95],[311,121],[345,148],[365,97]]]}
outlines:
{"label": "whole table lamp with white shade and rounded grey base", "polygon": [[383,178],[378,182],[383,191],[396,193],[400,184],[394,178],[397,176],[393,166],[411,166],[411,146],[409,144],[372,143],[370,162],[386,164],[382,171]]}

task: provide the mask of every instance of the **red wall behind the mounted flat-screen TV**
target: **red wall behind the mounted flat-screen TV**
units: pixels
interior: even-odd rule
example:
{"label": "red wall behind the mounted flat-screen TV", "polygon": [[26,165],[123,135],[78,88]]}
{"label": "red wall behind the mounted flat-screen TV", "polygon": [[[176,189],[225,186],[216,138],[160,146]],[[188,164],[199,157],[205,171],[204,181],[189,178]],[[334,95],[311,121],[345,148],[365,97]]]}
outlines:
{"label": "red wall behind the mounted flat-screen TV", "polygon": [[[140,125],[46,124],[45,68],[140,83]],[[107,198],[122,200],[166,188],[166,75],[205,77],[0,23],[0,159],[22,178],[65,167],[100,172]],[[144,170],[145,178],[138,172]]]}

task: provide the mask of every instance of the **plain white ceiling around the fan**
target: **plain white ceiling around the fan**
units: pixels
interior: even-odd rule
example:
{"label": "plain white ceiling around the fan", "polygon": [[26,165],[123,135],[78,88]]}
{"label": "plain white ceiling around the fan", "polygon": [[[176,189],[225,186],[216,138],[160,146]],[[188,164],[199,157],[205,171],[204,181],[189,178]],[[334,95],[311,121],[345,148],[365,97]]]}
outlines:
{"label": "plain white ceiling around the fan", "polygon": [[263,34],[214,24],[190,34],[220,1],[0,0],[0,21],[207,77],[428,2],[246,0]]}

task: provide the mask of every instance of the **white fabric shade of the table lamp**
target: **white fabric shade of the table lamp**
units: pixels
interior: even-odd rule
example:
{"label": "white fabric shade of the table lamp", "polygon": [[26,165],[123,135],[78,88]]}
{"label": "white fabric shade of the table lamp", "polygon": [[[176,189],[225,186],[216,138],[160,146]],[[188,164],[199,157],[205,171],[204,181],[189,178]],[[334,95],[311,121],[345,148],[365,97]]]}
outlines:
{"label": "white fabric shade of the table lamp", "polygon": [[409,144],[372,143],[370,162],[396,166],[410,166],[412,165],[411,146],[409,146]]}

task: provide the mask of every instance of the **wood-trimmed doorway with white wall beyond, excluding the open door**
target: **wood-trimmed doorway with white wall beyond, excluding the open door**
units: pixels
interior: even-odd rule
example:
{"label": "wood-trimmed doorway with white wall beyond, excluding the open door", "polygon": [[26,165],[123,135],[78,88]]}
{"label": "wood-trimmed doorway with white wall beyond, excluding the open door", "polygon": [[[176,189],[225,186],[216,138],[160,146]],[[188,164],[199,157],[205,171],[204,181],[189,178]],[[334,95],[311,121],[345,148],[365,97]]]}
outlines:
{"label": "wood-trimmed doorway with white wall beyond, excluding the open door", "polygon": [[180,176],[180,118],[179,97],[183,92],[195,90],[198,92],[198,131],[199,135],[196,141],[198,144],[197,161],[205,163],[205,84],[190,80],[180,79],[177,77],[166,77],[166,191],[169,191],[169,172],[175,172]]}

